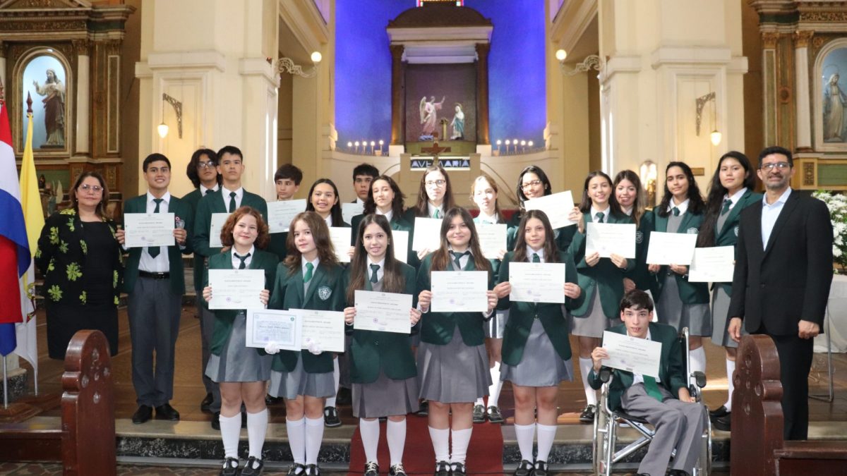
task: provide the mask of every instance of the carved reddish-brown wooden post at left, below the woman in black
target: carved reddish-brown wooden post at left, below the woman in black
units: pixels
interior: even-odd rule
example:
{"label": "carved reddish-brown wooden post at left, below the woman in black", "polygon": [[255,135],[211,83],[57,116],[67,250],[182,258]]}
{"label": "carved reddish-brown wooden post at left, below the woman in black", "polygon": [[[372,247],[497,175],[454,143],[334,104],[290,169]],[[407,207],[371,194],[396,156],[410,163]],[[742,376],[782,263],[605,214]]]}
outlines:
{"label": "carved reddish-brown wooden post at left, below the woman in black", "polygon": [[115,474],[112,368],[99,330],[80,330],[70,340],[62,389],[64,474]]}

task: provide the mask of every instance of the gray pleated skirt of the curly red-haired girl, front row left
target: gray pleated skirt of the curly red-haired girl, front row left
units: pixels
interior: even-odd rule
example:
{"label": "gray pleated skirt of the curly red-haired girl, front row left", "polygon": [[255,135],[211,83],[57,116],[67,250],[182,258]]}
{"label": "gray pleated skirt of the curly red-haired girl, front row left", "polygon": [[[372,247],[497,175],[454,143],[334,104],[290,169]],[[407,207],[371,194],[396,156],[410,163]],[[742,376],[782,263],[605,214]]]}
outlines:
{"label": "gray pleated skirt of the curly red-haired girl, front row left", "polygon": [[239,313],[232,323],[230,337],[219,356],[211,354],[206,364],[206,376],[213,382],[260,382],[270,378],[274,356],[259,355],[247,347],[246,316]]}

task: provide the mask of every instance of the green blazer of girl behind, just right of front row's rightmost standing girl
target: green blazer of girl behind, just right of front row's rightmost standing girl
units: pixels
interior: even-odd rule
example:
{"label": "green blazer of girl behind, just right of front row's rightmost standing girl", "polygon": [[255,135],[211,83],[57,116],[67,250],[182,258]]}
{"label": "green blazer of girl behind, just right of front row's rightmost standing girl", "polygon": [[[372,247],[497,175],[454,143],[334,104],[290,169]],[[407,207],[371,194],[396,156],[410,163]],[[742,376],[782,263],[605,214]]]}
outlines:
{"label": "green blazer of girl behind, just right of front row's rightmost standing girl", "polygon": [[[594,221],[590,212],[583,213],[583,216],[586,224]],[[622,216],[610,213],[606,223],[628,224],[633,223],[633,218],[626,214]],[[599,291],[600,303],[606,318],[616,318],[623,298],[623,277],[632,272],[636,260],[628,259],[626,269],[617,268],[609,258],[601,258],[600,263],[589,266],[585,263],[585,234],[579,232],[573,236],[569,252],[573,256],[573,261],[577,263],[579,287],[583,289],[585,295],[582,305],[573,309],[573,316],[586,317],[591,302],[594,302],[594,293]]]}

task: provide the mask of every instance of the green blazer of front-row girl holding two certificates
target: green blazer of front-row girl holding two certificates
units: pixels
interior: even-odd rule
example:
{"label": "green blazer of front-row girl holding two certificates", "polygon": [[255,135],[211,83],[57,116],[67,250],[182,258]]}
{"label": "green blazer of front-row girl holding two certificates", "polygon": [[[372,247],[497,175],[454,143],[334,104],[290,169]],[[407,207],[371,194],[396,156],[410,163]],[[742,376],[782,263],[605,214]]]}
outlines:
{"label": "green blazer of front-row girl holding two certificates", "polygon": [[[343,311],[345,302],[343,273],[344,268],[339,265],[328,266],[319,263],[309,282],[309,291],[304,295],[303,271],[300,262],[297,262],[294,273],[291,273],[285,263],[280,263],[268,308]],[[300,356],[303,359],[303,369],[309,374],[324,374],[332,372],[332,355],[332,352],[322,352],[316,356],[308,351],[280,351],[274,356],[273,369],[278,372],[291,372],[297,366],[297,356]]]}

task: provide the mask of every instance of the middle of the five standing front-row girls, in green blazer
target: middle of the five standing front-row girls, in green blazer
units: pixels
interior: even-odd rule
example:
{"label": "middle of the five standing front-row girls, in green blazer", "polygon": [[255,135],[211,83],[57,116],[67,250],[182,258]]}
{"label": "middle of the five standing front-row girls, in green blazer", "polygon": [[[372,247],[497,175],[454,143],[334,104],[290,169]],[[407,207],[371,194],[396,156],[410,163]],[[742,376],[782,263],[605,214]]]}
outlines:
{"label": "middle of the five standing front-row girls, in green blazer", "polygon": [[[379,179],[378,179],[379,180]],[[374,180],[376,181],[376,180]],[[368,200],[371,202],[371,200]],[[357,229],[356,252],[345,272],[344,318],[352,326],[357,318],[356,291],[415,294],[415,269],[394,257],[391,226],[384,215],[368,214]],[[412,298],[412,306],[416,304]],[[421,317],[409,309],[410,327]],[[409,334],[352,330],[350,379],[353,416],[365,450],[365,476],[378,476],[377,446],[379,419],[388,417],[386,435],[391,458],[389,474],[406,476],[403,446],[406,444],[406,414],[418,411],[418,371]]]}

